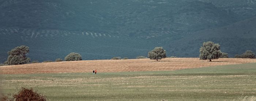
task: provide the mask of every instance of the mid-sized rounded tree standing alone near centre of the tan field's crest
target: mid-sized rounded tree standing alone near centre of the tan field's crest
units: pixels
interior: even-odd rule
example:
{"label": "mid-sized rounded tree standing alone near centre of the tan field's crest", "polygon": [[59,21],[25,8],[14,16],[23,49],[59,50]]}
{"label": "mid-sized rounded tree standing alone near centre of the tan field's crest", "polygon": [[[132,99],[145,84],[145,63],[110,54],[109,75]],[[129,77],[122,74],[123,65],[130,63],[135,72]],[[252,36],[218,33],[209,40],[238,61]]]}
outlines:
{"label": "mid-sized rounded tree standing alone near centre of the tan field's crest", "polygon": [[166,58],[166,51],[163,50],[163,47],[155,47],[155,49],[148,52],[148,58],[154,60],[161,60],[162,58]]}

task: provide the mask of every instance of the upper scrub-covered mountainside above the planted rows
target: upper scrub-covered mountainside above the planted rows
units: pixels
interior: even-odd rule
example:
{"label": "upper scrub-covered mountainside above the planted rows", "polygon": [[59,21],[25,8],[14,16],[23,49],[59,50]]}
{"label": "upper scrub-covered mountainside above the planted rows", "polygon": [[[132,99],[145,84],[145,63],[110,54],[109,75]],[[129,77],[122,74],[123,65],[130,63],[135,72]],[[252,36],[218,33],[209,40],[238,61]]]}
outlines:
{"label": "upper scrub-covered mountainside above the planted rows", "polygon": [[199,1],[12,0],[1,4],[1,27],[148,34],[198,31],[240,20],[239,15]]}

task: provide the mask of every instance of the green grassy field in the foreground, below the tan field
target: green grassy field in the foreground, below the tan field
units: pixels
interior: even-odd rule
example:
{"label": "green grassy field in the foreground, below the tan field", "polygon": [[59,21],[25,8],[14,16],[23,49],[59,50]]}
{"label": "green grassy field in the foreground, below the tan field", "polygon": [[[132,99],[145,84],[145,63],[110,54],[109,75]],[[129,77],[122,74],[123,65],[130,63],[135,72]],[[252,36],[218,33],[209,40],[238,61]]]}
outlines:
{"label": "green grassy field in the foreground, below the tan field", "polygon": [[256,63],[157,72],[1,76],[4,93],[32,87],[50,101],[241,101],[246,96],[256,100]]}

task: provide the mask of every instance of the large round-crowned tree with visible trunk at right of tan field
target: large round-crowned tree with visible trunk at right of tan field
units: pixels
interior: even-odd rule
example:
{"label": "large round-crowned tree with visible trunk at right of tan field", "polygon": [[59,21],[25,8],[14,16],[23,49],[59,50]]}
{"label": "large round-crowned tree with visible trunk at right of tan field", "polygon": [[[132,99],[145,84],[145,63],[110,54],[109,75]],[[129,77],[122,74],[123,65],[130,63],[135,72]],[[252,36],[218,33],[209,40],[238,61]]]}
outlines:
{"label": "large round-crowned tree with visible trunk at right of tan field", "polygon": [[214,44],[211,41],[204,42],[200,48],[199,58],[200,60],[212,60],[221,57],[221,47],[219,44]]}

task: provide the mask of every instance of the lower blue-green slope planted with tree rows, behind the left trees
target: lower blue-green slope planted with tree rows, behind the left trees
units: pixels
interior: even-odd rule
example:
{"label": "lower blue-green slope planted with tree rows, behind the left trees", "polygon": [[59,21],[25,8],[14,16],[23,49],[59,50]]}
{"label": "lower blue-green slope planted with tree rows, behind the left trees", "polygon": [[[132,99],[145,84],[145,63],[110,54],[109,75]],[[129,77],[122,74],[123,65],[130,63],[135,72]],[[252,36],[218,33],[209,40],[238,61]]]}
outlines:
{"label": "lower blue-green slope planted with tree rows, behind the left trees", "polygon": [[110,59],[114,56],[135,58],[141,55],[147,56],[147,52],[157,44],[161,44],[162,40],[159,37],[150,38],[150,40],[136,39],[124,35],[87,31],[69,32],[17,28],[0,28],[0,36],[2,36],[1,42],[10,41],[12,43],[11,45],[0,45],[2,48],[4,47],[1,53],[6,54],[5,57],[1,57],[1,61],[6,60],[7,51],[20,45],[30,47],[29,57],[32,61],[53,61],[56,58],[64,58],[70,52],[82,54],[84,60]]}

